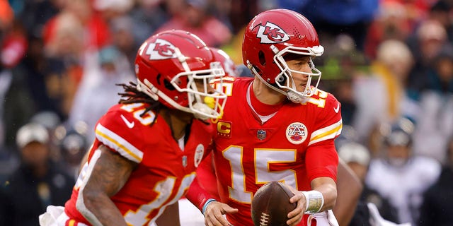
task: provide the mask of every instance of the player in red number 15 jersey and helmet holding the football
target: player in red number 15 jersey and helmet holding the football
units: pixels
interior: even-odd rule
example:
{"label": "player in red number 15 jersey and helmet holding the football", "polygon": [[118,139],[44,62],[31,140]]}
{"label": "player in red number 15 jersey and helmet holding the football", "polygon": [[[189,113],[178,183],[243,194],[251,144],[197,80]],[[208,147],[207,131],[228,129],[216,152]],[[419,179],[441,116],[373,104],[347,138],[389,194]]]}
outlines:
{"label": "player in red number 15 jersey and helmet holding the football", "polygon": [[[287,225],[338,225],[331,211],[337,198],[334,140],[343,123],[340,102],[317,88],[321,72],[312,58],[323,50],[313,25],[294,11],[265,11],[248,24],[242,55],[254,78],[222,84],[229,101],[212,153],[220,200],[198,183],[187,196],[205,225],[253,225],[251,199],[270,181],[285,182],[294,193],[290,201],[297,208]],[[352,207],[360,189],[354,192],[345,201]]]}

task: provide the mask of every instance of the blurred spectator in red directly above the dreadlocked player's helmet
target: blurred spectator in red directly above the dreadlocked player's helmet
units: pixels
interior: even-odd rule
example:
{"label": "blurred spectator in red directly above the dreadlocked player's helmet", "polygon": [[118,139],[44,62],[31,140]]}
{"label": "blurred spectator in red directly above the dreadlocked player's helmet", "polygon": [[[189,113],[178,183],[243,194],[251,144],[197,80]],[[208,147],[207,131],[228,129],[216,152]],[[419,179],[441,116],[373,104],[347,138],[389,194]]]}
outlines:
{"label": "blurred spectator in red directly above the dreadlocked player's helmet", "polygon": [[183,0],[183,7],[156,31],[187,30],[200,37],[207,46],[220,47],[231,40],[231,30],[210,15],[208,0]]}

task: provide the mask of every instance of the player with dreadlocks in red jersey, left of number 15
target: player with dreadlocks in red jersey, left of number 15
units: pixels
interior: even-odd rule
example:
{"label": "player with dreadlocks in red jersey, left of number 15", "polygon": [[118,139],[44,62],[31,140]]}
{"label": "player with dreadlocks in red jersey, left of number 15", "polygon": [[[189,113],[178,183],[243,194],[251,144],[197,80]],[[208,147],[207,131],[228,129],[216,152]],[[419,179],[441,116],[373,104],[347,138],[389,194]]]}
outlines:
{"label": "player with dreadlocks in red jersey, left of number 15", "polygon": [[96,124],[71,198],[64,209],[49,206],[40,225],[179,224],[159,216],[175,208],[207,155],[208,120],[226,98],[210,80],[222,81],[224,70],[198,37],[170,30],[142,44],[135,72],[137,84],[122,84],[119,104]]}

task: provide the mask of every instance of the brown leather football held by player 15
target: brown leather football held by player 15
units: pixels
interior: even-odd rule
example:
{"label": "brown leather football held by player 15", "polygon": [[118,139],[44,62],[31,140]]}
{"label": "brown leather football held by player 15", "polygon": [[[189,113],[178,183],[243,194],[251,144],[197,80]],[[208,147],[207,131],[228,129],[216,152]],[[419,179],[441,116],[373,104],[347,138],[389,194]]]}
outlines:
{"label": "brown leather football held by player 15", "polygon": [[255,226],[286,226],[287,215],[297,203],[289,203],[294,196],[285,184],[268,182],[253,195],[251,215]]}

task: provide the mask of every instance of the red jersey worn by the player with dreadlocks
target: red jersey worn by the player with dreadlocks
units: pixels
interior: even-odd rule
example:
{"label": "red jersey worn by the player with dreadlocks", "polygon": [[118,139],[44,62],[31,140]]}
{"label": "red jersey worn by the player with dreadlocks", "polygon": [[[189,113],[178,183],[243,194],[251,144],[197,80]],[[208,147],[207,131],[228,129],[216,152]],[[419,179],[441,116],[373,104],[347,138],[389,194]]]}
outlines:
{"label": "red jersey worn by the player with dreadlocks", "polygon": [[[115,105],[98,121],[88,162],[65,205],[65,213],[71,220],[88,225],[76,210],[76,201],[101,144],[138,163],[122,189],[111,197],[129,225],[149,225],[188,190],[195,169],[210,150],[212,126],[194,119],[190,135],[186,134],[189,137],[185,148],[181,150],[164,118],[151,111],[140,116],[146,107],[149,106],[142,103]],[[150,126],[156,117],[155,124]]]}

